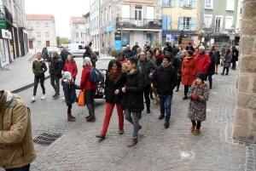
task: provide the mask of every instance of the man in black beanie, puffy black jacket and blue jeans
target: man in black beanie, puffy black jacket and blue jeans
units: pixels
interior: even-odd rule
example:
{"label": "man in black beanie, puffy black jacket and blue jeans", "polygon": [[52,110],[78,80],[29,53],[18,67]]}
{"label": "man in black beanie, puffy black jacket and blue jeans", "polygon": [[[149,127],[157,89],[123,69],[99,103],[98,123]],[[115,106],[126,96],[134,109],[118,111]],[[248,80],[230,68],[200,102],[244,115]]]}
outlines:
{"label": "man in black beanie, puffy black jacket and blue jeans", "polygon": [[171,118],[171,103],[173,89],[177,85],[177,72],[176,69],[170,63],[170,57],[163,56],[163,63],[154,70],[153,85],[157,88],[157,94],[160,97],[160,117],[165,117],[166,110],[166,122],[165,128],[169,127],[169,121]]}

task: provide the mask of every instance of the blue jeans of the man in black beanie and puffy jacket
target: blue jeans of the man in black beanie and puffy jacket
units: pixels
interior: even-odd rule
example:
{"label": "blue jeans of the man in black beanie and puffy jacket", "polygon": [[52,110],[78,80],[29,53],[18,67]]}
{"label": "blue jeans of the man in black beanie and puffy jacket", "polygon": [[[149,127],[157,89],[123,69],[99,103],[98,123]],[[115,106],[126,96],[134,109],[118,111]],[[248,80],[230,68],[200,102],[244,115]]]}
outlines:
{"label": "blue jeans of the man in black beanie and puffy jacket", "polygon": [[160,113],[165,115],[166,111],[166,121],[171,118],[171,103],[172,95],[166,95],[166,97],[160,97]]}

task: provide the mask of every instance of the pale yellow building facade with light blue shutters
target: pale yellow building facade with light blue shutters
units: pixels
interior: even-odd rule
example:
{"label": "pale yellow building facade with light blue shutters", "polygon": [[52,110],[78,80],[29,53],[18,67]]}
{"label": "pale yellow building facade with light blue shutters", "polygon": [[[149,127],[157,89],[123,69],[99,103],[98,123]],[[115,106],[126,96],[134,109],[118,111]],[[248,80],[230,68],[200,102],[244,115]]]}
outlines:
{"label": "pale yellow building facade with light blue shutters", "polygon": [[[162,0],[162,43],[177,43],[180,31],[197,38],[200,0]],[[166,38],[167,37],[167,38]]]}

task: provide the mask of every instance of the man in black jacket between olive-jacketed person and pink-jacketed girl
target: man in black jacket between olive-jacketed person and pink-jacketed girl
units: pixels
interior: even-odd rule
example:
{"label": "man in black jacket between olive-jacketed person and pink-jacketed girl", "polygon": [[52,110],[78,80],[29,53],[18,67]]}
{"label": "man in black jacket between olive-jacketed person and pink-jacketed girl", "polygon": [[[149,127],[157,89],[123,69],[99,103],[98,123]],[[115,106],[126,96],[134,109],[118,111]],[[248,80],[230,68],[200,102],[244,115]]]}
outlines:
{"label": "man in black jacket between olive-jacketed person and pink-jacketed girl", "polygon": [[55,50],[52,52],[52,55],[53,57],[49,60],[49,76],[50,84],[55,89],[55,94],[52,97],[56,100],[60,95],[60,79],[62,77],[61,70],[63,68],[63,61]]}

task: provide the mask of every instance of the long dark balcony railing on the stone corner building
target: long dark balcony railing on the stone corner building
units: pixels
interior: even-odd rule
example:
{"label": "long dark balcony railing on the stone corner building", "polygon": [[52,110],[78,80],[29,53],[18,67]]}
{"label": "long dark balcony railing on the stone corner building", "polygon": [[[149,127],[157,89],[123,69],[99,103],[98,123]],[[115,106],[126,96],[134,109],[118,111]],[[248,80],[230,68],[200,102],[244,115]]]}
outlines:
{"label": "long dark balcony railing on the stone corner building", "polygon": [[117,18],[116,26],[120,27],[119,21],[123,20],[124,28],[133,28],[133,29],[162,29],[162,20],[154,20],[154,19],[142,19],[137,20],[134,18]]}

